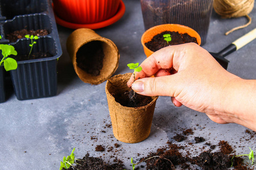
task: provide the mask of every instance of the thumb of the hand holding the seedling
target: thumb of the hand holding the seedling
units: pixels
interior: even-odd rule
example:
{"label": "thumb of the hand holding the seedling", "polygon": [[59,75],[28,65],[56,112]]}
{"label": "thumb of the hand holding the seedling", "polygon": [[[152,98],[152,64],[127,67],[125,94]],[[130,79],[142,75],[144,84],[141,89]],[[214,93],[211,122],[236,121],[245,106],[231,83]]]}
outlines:
{"label": "thumb of the hand holding the seedling", "polygon": [[[176,74],[159,77],[143,78],[136,80],[131,88],[135,92],[145,96],[172,96],[175,97],[177,91]],[[174,82],[175,79],[175,83]],[[177,95],[177,94],[176,94]]]}

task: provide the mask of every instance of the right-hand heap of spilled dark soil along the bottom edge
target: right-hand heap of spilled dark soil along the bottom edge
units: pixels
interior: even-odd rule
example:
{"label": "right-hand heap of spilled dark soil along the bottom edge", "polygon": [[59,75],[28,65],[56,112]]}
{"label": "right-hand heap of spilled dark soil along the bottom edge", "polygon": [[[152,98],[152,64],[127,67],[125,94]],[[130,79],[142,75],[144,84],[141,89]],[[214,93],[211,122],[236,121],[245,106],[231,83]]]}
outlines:
{"label": "right-hand heap of spilled dark soil along the bottom edge", "polygon": [[[195,143],[197,142],[195,141]],[[177,165],[179,165],[181,169],[193,169],[189,164],[196,164],[205,170],[221,170],[228,169],[232,165],[233,155],[229,155],[231,152],[227,151],[233,151],[233,149],[226,141],[220,141],[220,151],[212,152],[212,150],[209,149],[208,151],[201,152],[199,156],[192,158],[189,157],[189,151],[187,151],[187,155],[185,156],[182,156],[179,152],[179,149],[185,150],[185,146],[177,146],[171,142],[167,142],[167,144],[169,145],[168,147],[158,148],[156,152],[151,152],[146,157],[140,159],[139,163],[146,162],[146,169],[150,170],[176,169]],[[208,142],[206,142],[205,145],[210,146],[210,148],[212,146]],[[215,145],[213,146],[215,148]],[[249,169],[243,165],[243,159],[240,157],[233,158],[233,167],[238,170]]]}

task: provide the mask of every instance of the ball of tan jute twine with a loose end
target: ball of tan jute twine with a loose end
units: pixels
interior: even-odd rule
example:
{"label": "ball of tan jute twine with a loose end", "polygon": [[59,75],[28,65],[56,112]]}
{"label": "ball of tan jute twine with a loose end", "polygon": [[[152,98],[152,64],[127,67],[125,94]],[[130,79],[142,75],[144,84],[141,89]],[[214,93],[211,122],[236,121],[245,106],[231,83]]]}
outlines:
{"label": "ball of tan jute twine with a loose end", "polygon": [[248,15],[251,10],[253,10],[254,0],[214,0],[213,8],[217,14],[221,15],[223,18],[238,18],[241,16],[246,16],[248,22],[245,25],[233,28],[226,32],[225,35],[229,33],[245,28],[251,23],[251,18]]}

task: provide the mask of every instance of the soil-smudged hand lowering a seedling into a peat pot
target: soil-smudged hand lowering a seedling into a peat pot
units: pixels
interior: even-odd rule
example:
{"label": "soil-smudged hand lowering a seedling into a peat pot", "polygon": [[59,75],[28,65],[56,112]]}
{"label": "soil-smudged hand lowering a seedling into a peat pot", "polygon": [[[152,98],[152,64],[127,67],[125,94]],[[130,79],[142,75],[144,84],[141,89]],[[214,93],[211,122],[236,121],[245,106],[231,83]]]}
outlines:
{"label": "soil-smudged hand lowering a seedling into a peat pot", "polygon": [[[227,114],[223,104],[230,82],[241,79],[222,68],[207,52],[195,43],[169,46],[158,50],[141,63],[142,71],[127,85],[146,96],[171,96],[172,102],[195,111],[207,113],[219,124],[236,122]],[[151,77],[154,75],[155,77]],[[133,83],[134,82],[134,83]],[[228,108],[229,109],[229,108]]]}

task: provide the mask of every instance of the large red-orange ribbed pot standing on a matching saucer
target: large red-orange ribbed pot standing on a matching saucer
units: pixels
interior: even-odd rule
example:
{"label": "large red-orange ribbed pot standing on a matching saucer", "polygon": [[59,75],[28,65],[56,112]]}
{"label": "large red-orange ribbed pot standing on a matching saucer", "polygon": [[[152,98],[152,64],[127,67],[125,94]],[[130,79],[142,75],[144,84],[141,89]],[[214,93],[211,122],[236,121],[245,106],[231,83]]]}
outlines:
{"label": "large red-orange ribbed pot standing on a matching saucer", "polygon": [[102,22],[117,13],[121,0],[53,0],[59,18],[77,24]]}

